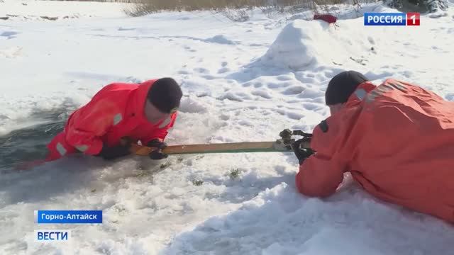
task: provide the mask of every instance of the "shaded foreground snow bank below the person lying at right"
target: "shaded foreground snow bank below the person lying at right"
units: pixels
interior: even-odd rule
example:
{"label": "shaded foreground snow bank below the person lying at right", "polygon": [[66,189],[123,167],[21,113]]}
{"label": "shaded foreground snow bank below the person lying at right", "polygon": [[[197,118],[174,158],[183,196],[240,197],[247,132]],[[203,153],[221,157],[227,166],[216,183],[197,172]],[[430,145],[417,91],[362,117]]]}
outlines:
{"label": "shaded foreground snow bank below the person lying at right", "polygon": [[418,217],[377,205],[357,186],[324,202],[301,200],[292,186],[281,183],[235,212],[180,234],[162,254],[415,255],[441,254],[452,246],[447,226]]}

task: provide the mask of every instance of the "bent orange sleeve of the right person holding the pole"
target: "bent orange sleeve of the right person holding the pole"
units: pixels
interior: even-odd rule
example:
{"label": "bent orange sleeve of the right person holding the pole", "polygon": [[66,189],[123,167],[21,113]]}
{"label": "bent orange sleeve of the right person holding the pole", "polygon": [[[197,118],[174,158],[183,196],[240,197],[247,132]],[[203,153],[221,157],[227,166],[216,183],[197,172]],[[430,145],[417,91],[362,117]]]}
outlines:
{"label": "bent orange sleeve of the right person holding the pole", "polygon": [[343,181],[347,165],[336,159],[341,137],[337,122],[333,118],[326,119],[328,130],[324,132],[319,125],[314,128],[311,147],[316,152],[299,166],[295,178],[298,191],[305,196],[331,196]]}

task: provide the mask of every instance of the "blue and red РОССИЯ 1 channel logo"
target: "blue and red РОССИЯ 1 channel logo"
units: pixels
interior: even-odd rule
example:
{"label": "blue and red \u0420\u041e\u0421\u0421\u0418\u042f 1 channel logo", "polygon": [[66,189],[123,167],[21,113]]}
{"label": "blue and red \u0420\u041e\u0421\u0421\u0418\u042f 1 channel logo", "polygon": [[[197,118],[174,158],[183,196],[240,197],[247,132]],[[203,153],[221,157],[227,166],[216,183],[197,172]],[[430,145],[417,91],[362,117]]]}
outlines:
{"label": "blue and red \u0420\u041e\u0421\u0421\u0418\u042f 1 channel logo", "polygon": [[420,13],[364,13],[364,26],[420,26]]}

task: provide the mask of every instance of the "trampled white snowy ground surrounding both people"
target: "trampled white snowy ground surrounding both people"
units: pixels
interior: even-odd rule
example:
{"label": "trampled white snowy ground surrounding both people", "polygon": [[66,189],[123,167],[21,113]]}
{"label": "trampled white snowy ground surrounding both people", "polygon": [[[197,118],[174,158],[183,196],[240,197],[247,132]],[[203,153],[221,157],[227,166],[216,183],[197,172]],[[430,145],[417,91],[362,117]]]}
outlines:
{"label": "trampled white snowy ground surrounding both people", "polygon": [[[453,11],[421,16],[420,27],[364,27],[345,13],[336,28],[259,14],[245,23],[203,12],[128,18],[122,6],[0,2],[0,16],[79,13],[0,20],[0,135],[19,132],[18,146],[26,147],[43,140],[24,136],[33,125],[62,123],[101,86],[164,76],[184,91],[170,144],[268,141],[284,128],[311,132],[328,115],[327,82],[345,69],[377,83],[411,81],[454,101]],[[4,152],[11,139],[3,140]],[[5,171],[0,254],[453,252],[451,225],[375,200],[348,176],[335,196],[306,198],[295,190],[296,171],[294,155],[281,153],[110,163],[71,157]],[[33,229],[43,226],[33,223],[33,210],[45,209],[103,210],[104,223],[45,226],[72,229],[72,243],[38,245]]]}

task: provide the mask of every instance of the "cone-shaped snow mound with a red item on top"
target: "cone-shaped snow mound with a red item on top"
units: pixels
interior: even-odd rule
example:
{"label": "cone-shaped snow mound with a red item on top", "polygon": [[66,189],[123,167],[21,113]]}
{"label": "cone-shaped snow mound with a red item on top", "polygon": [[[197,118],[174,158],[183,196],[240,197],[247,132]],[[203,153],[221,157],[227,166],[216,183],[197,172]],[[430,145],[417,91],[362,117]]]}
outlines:
{"label": "cone-shaped snow mound with a red item on top", "polygon": [[282,29],[259,62],[295,71],[329,67],[355,56],[358,46],[371,44],[367,36],[354,31],[349,23],[336,29],[324,21],[296,20]]}

